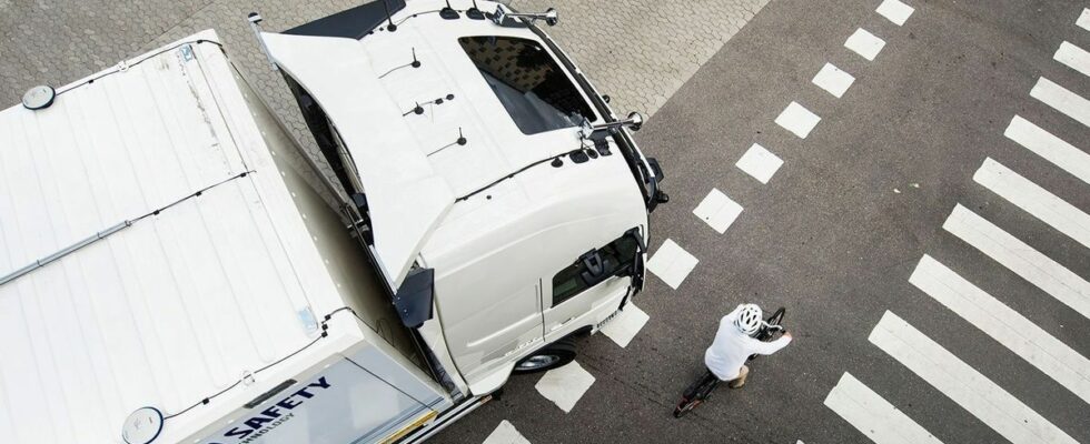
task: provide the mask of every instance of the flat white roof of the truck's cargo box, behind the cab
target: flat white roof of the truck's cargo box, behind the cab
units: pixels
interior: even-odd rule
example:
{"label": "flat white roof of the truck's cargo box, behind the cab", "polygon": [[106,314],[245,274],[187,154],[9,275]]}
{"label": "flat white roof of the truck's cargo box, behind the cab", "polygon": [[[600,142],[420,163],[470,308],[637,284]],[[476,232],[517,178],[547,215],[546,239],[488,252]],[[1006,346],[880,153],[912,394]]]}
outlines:
{"label": "flat white roof of the truck's cargo box, behind the cab", "polygon": [[0,442],[121,442],[224,391],[181,438],[255,396],[244,372],[328,356],[307,345],[344,301],[218,40],[0,111]]}

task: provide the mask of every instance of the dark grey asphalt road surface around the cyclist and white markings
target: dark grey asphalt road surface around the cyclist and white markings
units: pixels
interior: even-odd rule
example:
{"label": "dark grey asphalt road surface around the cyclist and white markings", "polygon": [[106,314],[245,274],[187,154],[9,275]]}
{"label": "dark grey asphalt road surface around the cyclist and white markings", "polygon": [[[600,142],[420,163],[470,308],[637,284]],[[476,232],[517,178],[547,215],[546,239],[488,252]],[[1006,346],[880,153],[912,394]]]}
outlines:
{"label": "dark grey asphalt road surface around the cyclist and white markings", "polygon": [[[1063,41],[1090,48],[1090,30],[1074,24],[1088,4],[912,0],[915,12],[899,27],[874,12],[879,3],[772,1],[704,64],[637,133],[673,198],[653,214],[653,246],[675,241],[700,260],[695,270],[677,290],[648,280],[636,304],[651,319],[626,349],[601,334],[581,344],[578,362],[596,381],[571,413],[535,392],[538,376],[516,376],[501,401],[436,441],[482,442],[506,420],[534,443],[868,442],[823,404],[845,372],[942,442],[1007,441],[985,421],[993,416],[959,405],[869,341],[890,311],[1090,442],[1086,401],[909,282],[933,256],[1090,355],[1083,314],[943,230],[960,203],[1090,278],[1087,245],[973,180],[991,158],[1090,211],[1088,183],[1004,137],[1018,114],[1090,149],[1090,128],[1030,97],[1044,77],[1090,98],[1090,78],[1053,60]],[[858,28],[885,41],[874,61],[844,48]],[[840,99],[811,83],[826,62],[856,79]],[[792,101],[822,119],[805,139],[773,122]],[[767,184],[734,165],[755,142],[784,160]],[[744,208],[722,235],[692,213],[713,188]],[[721,387],[674,420],[719,317],[747,301],[786,306],[795,342],[756,362],[743,390]]]}

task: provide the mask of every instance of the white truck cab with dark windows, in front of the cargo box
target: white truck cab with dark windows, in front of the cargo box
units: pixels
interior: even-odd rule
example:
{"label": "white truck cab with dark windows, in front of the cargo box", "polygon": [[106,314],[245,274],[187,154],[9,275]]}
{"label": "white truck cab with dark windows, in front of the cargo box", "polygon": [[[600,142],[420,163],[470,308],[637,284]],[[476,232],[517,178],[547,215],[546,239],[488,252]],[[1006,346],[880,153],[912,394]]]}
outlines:
{"label": "white truck cab with dark windows, in front of the cargo box", "polygon": [[537,27],[555,12],[387,3],[373,27],[259,37],[357,239],[413,306],[405,326],[457,385],[489,393],[571,361],[552,344],[640,291],[662,173],[625,128],[641,119],[618,121]]}

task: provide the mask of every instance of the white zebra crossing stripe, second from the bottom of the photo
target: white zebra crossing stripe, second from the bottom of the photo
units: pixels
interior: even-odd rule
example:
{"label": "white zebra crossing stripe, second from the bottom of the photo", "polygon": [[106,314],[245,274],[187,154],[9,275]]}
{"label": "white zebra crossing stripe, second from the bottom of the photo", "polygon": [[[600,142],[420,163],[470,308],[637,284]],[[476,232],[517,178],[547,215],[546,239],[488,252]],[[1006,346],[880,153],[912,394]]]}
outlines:
{"label": "white zebra crossing stripe, second from the bottom of the photo", "polygon": [[1014,444],[1077,443],[890,311],[882,315],[868,340]]}

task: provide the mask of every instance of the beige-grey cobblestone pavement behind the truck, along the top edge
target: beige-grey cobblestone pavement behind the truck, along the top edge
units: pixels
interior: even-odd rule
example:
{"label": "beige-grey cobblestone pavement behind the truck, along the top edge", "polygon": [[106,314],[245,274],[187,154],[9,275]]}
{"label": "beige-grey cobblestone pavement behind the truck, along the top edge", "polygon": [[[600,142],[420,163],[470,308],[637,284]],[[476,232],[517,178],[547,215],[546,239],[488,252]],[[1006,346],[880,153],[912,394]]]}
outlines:
{"label": "beige-grey cobblestone pavement behind the truck, along the top edge", "polygon": [[[638,110],[650,117],[766,2],[515,0],[512,6],[527,11],[556,8],[561,23],[548,31],[598,89],[613,97],[618,112]],[[214,28],[247,81],[331,176],[245,17],[259,11],[265,29],[283,30],[355,4],[358,1],[0,0],[0,104],[18,103],[30,87],[62,85]]]}

